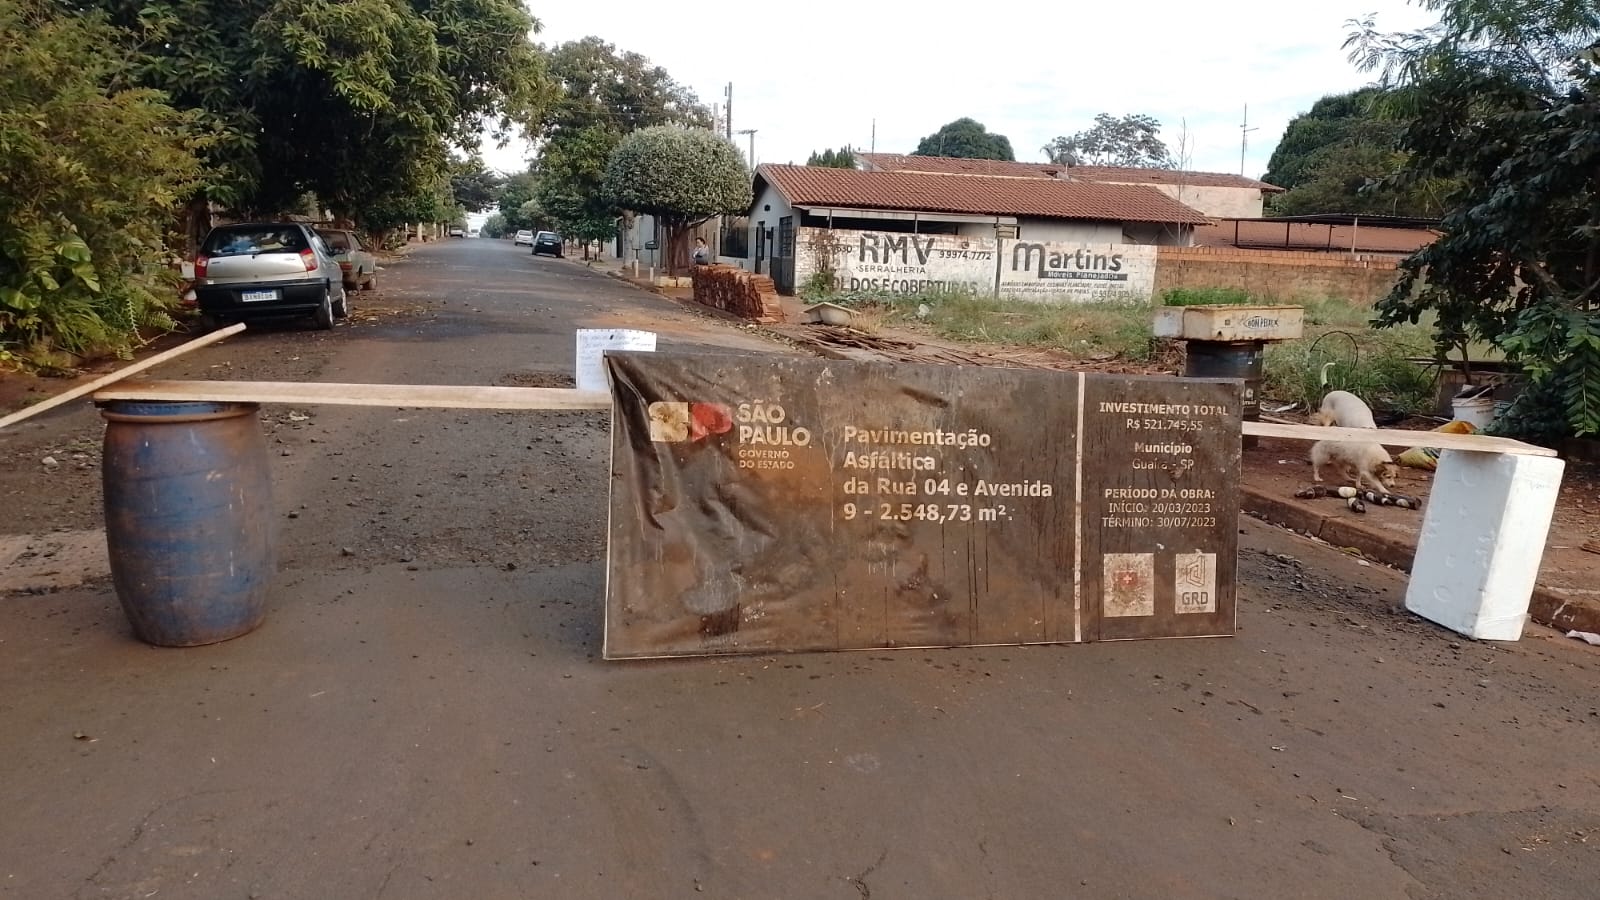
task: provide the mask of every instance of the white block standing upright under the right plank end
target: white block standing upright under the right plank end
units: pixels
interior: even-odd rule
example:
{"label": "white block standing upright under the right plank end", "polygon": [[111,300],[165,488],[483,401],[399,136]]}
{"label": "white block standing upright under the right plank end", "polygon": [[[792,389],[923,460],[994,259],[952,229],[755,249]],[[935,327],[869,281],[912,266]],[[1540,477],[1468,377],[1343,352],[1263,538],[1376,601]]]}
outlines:
{"label": "white block standing upright under the right plank end", "polygon": [[1566,463],[1445,450],[1405,605],[1478,641],[1517,641]]}

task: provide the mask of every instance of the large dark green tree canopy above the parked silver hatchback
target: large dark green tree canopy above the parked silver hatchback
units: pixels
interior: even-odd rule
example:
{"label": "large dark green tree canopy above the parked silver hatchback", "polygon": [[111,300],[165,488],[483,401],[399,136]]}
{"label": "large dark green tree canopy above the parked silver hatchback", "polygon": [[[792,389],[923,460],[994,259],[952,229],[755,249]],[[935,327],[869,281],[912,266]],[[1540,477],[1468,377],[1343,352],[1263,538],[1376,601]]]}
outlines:
{"label": "large dark green tree canopy above the parked silver hatchback", "polygon": [[310,191],[371,226],[426,197],[451,146],[474,149],[483,125],[530,131],[549,101],[517,0],[85,5],[134,35],[131,77],[214,136],[198,199],[245,213]]}

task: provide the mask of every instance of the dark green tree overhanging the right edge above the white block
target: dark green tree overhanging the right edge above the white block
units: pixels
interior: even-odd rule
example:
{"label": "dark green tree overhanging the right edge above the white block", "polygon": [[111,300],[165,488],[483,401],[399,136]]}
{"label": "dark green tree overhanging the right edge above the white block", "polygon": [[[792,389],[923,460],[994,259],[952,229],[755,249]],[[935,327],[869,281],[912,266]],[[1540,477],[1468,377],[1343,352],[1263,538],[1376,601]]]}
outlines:
{"label": "dark green tree overhanging the right edge above the white block", "polygon": [[1530,386],[1509,429],[1600,432],[1600,8],[1592,0],[1426,0],[1421,32],[1354,22],[1352,59],[1408,119],[1397,184],[1446,179],[1432,245],[1378,323],[1437,314],[1440,352],[1485,340]]}

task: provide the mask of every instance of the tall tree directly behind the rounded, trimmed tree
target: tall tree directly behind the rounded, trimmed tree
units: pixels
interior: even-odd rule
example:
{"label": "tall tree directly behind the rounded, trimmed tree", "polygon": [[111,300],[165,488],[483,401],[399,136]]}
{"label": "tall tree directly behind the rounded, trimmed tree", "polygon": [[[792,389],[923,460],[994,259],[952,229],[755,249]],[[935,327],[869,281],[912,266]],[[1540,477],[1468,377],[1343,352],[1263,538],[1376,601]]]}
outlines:
{"label": "tall tree directly behind the rounded, trimmed tree", "polygon": [[[694,91],[672,80],[645,56],[619,51],[598,37],[550,50],[550,75],[560,93],[544,127],[536,163],[538,197],[562,234],[579,240],[630,234],[632,211],[605,195],[605,171],[618,144],[656,125],[709,127],[712,115]],[[629,247],[619,248],[624,258]]]}

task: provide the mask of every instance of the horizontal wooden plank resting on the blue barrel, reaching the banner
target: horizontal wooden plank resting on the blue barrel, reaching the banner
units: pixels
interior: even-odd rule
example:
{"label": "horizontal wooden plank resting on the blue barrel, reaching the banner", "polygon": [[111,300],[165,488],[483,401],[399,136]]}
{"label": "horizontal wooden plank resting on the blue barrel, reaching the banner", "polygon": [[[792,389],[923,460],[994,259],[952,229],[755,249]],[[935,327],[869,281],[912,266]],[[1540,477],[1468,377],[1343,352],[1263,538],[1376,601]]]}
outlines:
{"label": "horizontal wooden plank resting on the blue barrel, reaching the banner", "polygon": [[608,410],[606,391],[493,388],[480,384],[333,384],[302,381],[136,381],[96,400],[211,400],[328,404],[336,407],[434,407],[445,410]]}

